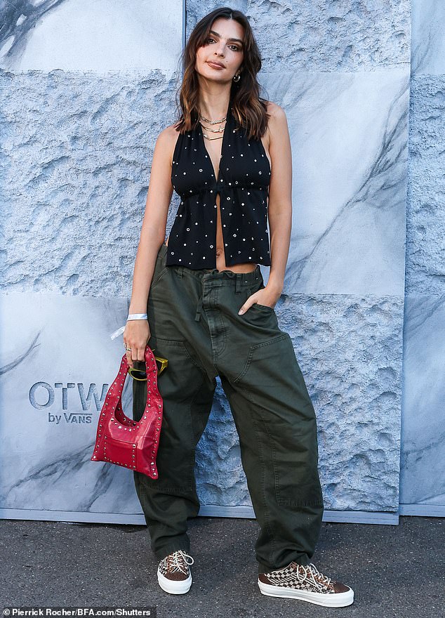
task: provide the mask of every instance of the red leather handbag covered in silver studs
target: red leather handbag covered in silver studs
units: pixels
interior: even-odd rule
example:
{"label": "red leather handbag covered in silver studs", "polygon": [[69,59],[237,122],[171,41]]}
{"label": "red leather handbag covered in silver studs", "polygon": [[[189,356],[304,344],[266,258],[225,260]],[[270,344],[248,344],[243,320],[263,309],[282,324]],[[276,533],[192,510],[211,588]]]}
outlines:
{"label": "red leather handbag covered in silver studs", "polygon": [[[166,359],[162,359],[165,360]],[[162,365],[164,368],[164,364]],[[156,456],[162,423],[162,397],[158,390],[156,357],[145,347],[147,403],[140,421],[133,421],[122,409],[122,390],[127,373],[131,373],[126,354],[116,379],[109,387],[100,411],[95,447],[91,461],[107,461],[158,478]],[[131,373],[133,376],[133,374]]]}

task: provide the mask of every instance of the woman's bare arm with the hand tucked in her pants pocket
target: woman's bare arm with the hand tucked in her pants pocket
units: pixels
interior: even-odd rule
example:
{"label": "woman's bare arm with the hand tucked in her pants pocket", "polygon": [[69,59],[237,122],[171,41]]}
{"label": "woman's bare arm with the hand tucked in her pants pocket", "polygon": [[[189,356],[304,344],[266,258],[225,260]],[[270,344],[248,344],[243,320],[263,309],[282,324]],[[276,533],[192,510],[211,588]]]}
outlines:
{"label": "woman's bare arm with the hand tucked in her pants pocket", "polygon": [[[292,229],[292,152],[286,113],[276,103],[270,103],[268,131],[269,154],[272,162],[269,204],[267,207],[270,230],[270,273],[267,285],[243,305],[246,311],[253,303],[277,304],[284,285]],[[244,312],[243,312],[244,313]]]}

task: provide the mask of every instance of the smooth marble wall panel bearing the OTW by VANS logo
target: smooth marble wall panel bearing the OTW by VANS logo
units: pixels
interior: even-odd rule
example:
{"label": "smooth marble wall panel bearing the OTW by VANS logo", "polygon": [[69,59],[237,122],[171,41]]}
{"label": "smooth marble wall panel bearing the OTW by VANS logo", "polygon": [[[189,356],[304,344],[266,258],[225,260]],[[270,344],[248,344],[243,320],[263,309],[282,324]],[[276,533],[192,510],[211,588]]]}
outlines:
{"label": "smooth marble wall panel bearing the OTW by VANS logo", "polygon": [[[131,471],[91,461],[99,411],[124,346],[128,301],[4,294],[0,504],[6,511],[141,513]],[[131,416],[131,378],[122,396]],[[100,520],[100,518],[99,518]]]}

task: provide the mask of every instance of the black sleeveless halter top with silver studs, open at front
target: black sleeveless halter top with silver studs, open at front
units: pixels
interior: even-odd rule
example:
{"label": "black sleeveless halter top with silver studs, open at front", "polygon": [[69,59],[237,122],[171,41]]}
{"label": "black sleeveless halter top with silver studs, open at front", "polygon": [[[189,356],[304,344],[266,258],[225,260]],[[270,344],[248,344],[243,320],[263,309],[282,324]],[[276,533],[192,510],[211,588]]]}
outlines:
{"label": "black sleeveless halter top with silver studs, open at front", "polygon": [[267,199],[271,169],[263,142],[247,139],[232,114],[232,100],[217,178],[205,139],[198,124],[196,129],[179,134],[175,145],[171,183],[181,202],[168,237],[166,265],[216,268],[219,192],[226,265],[252,262],[270,266]]}

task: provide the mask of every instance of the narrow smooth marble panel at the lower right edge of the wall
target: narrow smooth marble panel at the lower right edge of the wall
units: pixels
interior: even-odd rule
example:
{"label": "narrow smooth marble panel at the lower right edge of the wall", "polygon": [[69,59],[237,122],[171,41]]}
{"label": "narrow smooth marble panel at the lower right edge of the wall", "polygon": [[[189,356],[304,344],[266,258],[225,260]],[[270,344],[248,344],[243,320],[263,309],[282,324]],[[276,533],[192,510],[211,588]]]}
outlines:
{"label": "narrow smooth marble panel at the lower right edge of the wall", "polygon": [[445,294],[405,306],[400,502],[445,506]]}

